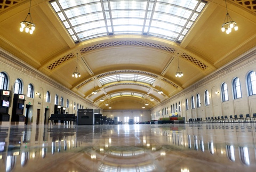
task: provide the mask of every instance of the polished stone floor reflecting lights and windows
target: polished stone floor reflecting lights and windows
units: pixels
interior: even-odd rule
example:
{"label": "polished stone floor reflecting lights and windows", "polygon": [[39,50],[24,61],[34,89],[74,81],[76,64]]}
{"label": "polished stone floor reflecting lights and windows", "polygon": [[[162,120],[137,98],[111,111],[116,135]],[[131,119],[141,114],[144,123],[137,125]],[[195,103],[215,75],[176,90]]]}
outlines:
{"label": "polished stone floor reflecting lights and windows", "polygon": [[256,124],[2,125],[0,171],[256,171]]}

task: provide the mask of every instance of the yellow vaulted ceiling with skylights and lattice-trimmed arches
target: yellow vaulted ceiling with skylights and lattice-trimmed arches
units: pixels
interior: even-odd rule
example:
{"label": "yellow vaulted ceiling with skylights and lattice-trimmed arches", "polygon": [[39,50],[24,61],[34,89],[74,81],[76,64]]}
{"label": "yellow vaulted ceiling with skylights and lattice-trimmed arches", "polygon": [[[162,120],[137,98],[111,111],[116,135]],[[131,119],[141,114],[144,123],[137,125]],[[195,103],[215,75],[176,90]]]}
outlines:
{"label": "yellow vaulted ceiling with skylights and lattice-trimmed arches", "polygon": [[153,108],[256,45],[255,1],[227,0],[230,34],[222,0],[34,0],[32,35],[29,5],[0,2],[0,46],[102,109]]}

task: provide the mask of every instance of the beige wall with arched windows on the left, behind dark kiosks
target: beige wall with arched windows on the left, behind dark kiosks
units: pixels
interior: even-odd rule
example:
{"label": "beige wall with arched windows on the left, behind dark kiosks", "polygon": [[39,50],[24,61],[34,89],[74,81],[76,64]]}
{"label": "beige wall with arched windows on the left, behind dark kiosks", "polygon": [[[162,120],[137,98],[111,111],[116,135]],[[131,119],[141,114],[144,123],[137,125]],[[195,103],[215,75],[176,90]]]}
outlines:
{"label": "beige wall with arched windows on the left, behind dark kiosks", "polygon": [[[45,108],[49,107],[49,111],[46,114],[46,119],[54,113],[54,99],[55,95],[57,94],[59,97],[59,104],[60,104],[60,97],[63,97],[64,107],[66,107],[67,99],[69,100],[69,108],[67,108],[66,112],[68,113],[76,113],[77,111],[77,103],[84,106],[84,108],[88,109],[100,109],[96,107],[89,101],[83,99],[83,97],[74,94],[68,88],[60,85],[56,81],[52,80],[51,78],[45,76],[43,73],[39,72],[38,70],[30,67],[29,65],[23,63],[22,61],[15,58],[12,54],[9,54],[0,48],[0,72],[5,72],[9,79],[9,86],[8,90],[11,92],[11,103],[9,107],[9,114],[12,114],[12,99],[13,99],[13,87],[16,79],[20,79],[23,85],[22,94],[27,95],[27,87],[29,84],[32,84],[34,87],[34,99],[26,97],[25,104],[31,103],[31,108],[29,110],[29,118],[28,124],[35,123],[37,117],[37,109],[40,110],[40,118],[39,124],[44,124],[44,113]],[[51,95],[50,103],[45,101],[45,94],[49,91]],[[39,98],[36,93],[41,93],[41,98]],[[74,103],[76,103],[76,109],[74,110]],[[102,111],[102,110],[101,110]],[[24,115],[26,111],[24,110]],[[11,121],[11,117],[10,117]],[[47,120],[46,120],[47,124]]]}

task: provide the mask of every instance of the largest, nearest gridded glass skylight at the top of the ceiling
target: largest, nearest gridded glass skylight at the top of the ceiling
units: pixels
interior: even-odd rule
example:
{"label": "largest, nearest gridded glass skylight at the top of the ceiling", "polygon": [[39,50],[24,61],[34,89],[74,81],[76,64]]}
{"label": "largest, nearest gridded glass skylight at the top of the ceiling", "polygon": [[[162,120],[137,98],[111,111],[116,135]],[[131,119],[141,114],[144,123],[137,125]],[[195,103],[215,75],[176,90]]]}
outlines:
{"label": "largest, nearest gridded glass skylight at the top of the ceiling", "polygon": [[153,35],[181,42],[205,6],[201,0],[50,3],[75,42],[118,34]]}

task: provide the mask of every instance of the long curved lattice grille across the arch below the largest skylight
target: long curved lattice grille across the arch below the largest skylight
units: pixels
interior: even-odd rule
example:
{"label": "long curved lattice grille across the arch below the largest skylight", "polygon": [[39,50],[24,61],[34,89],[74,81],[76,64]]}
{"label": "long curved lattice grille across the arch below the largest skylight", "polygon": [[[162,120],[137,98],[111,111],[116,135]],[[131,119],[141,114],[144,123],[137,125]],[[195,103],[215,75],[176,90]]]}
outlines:
{"label": "long curved lattice grille across the arch below the largest skylight", "polygon": [[159,50],[167,51],[170,53],[175,52],[175,49],[171,47],[167,47],[167,46],[155,44],[155,43],[137,41],[137,40],[121,40],[121,41],[100,43],[100,44],[95,44],[89,47],[82,48],[80,51],[83,54],[89,51],[98,50],[100,48],[113,47],[113,46],[145,46],[145,47],[156,48]]}

